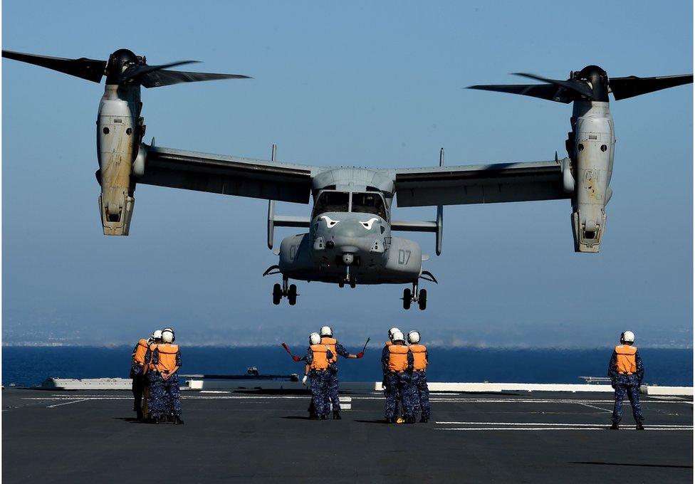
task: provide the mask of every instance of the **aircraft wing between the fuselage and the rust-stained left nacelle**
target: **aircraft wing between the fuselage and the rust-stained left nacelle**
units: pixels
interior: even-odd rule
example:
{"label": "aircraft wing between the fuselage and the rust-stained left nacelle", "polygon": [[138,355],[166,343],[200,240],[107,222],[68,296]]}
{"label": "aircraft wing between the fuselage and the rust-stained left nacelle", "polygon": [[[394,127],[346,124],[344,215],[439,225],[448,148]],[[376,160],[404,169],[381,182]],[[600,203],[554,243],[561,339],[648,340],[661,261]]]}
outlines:
{"label": "aircraft wing between the fuselage and the rust-stained left nacelle", "polygon": [[309,203],[315,167],[180,149],[145,148],[144,172],[135,177],[139,184]]}

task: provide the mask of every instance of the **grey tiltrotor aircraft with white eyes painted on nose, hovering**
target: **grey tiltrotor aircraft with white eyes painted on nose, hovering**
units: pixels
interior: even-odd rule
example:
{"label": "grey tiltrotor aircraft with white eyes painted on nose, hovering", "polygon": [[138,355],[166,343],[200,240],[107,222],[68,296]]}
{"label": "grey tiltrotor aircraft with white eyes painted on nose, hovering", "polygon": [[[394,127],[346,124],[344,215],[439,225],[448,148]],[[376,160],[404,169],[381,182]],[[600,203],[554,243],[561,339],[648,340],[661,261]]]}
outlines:
{"label": "grey tiltrotor aircraft with white eyes painted on nose, hovering", "polygon": [[[424,310],[427,290],[420,279],[437,283],[423,270],[418,243],[393,235],[394,231],[433,232],[441,254],[443,206],[510,201],[570,199],[575,251],[598,252],[605,233],[605,206],[613,166],[615,136],[608,94],[616,100],[691,83],[693,76],[608,78],[605,70],[589,65],[568,80],[535,85],[476,85],[474,89],[531,95],[557,102],[573,102],[572,131],[566,142],[568,157],[542,162],[439,166],[402,169],[316,167],[276,160],[247,159],[155,147],[142,142],[145,124],[140,116],[140,87],[244,75],[191,73],[168,70],[182,61],[147,65],[145,57],[127,49],[115,51],[108,61],[68,59],[3,51],[11,58],[99,83],[106,76],[105,93],[97,117],[97,151],[101,185],[100,219],[105,235],[126,236],[130,231],[137,184],[169,186],[216,194],[268,199],[268,248],[273,248],[275,227],[308,228],[307,233],[284,238],[280,260],[263,275],[281,274],[273,288],[273,303],[287,298],[296,304],[297,288],[289,280],[357,284],[409,284],[403,307],[417,302]],[[398,206],[436,206],[434,221],[397,221]],[[308,204],[307,217],[275,214],[275,201]]]}

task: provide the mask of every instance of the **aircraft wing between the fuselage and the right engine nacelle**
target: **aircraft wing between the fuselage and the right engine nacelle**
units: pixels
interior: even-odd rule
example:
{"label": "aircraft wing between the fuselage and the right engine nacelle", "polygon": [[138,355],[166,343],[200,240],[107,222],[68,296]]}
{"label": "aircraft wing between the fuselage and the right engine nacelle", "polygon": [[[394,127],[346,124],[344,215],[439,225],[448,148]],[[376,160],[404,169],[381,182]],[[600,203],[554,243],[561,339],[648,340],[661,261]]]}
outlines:
{"label": "aircraft wing between the fuselage and the right engine nacelle", "polygon": [[397,204],[434,206],[568,199],[571,194],[563,190],[563,162],[396,169]]}

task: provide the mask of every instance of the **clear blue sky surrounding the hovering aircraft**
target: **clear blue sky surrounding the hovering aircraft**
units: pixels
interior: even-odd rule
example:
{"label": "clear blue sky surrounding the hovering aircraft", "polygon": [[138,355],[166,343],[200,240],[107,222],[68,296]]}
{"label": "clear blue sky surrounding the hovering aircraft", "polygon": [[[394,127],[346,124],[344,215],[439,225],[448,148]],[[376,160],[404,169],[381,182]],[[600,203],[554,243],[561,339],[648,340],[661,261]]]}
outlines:
{"label": "clear blue sky surrounding the hovering aircraft", "polygon": [[[691,1],[20,2],[5,49],[149,63],[254,80],[142,92],[157,145],[318,165],[421,167],[564,155],[571,107],[461,89],[567,78],[692,72]],[[299,283],[271,304],[276,256],[266,202],[138,186],[129,237],[98,215],[95,119],[103,83],[2,61],[2,336],[5,343],[132,343],[173,325],[182,344],[305,342],[326,323],[348,344],[397,325],[423,342],[690,347],[693,95],[684,86],[612,102],[617,145],[602,252],[573,251],[569,201],[444,210],[444,253],[414,234],[427,311],[403,286]],[[308,206],[278,204],[281,214]],[[434,209],[396,209],[432,220]],[[276,243],[296,229],[280,229]],[[277,277],[277,276],[276,276]]]}

